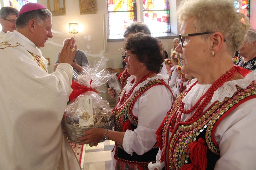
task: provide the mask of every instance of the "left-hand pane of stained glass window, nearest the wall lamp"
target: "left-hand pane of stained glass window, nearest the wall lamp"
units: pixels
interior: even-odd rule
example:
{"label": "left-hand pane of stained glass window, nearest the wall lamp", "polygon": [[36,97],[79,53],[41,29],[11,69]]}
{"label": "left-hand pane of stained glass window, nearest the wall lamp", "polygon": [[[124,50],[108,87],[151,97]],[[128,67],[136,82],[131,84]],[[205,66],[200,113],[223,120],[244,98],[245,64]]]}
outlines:
{"label": "left-hand pane of stained glass window, nearest the wall lamp", "polygon": [[136,0],[107,0],[109,35],[123,35],[127,26],[137,21]]}

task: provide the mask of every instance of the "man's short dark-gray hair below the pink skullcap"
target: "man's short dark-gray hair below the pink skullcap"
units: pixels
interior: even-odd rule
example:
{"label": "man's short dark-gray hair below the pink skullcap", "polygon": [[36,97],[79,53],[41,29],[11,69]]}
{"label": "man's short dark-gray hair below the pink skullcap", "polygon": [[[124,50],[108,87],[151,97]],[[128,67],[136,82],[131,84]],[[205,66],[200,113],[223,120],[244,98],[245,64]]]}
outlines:
{"label": "man's short dark-gray hair below the pink skullcap", "polygon": [[15,23],[16,28],[24,28],[31,19],[37,21],[38,25],[41,26],[46,19],[51,17],[52,13],[48,9],[29,11],[18,16]]}

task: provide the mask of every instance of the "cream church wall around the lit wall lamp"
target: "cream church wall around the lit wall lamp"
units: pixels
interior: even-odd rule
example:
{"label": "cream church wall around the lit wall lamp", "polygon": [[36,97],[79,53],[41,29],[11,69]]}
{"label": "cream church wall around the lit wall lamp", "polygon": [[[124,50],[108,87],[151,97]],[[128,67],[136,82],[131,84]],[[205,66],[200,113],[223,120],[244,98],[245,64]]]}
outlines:
{"label": "cream church wall around the lit wall lamp", "polygon": [[[47,6],[46,0],[38,0]],[[103,14],[107,14],[106,1],[97,0],[97,14],[80,15],[79,1],[65,1],[66,15],[52,17],[52,29],[61,34],[53,33],[53,38],[48,39],[44,48],[40,48],[43,56],[50,58],[50,65],[48,66],[49,73],[53,72],[53,65],[56,61],[58,52],[61,50],[62,41],[65,38],[75,37],[76,44],[80,50],[86,52],[90,64],[104,56],[110,61],[106,67],[122,68],[121,53],[123,41],[108,42],[107,52],[104,52],[103,46]],[[77,34],[68,33],[68,24],[78,23],[81,31]],[[165,50],[170,55],[173,39],[162,39]]]}

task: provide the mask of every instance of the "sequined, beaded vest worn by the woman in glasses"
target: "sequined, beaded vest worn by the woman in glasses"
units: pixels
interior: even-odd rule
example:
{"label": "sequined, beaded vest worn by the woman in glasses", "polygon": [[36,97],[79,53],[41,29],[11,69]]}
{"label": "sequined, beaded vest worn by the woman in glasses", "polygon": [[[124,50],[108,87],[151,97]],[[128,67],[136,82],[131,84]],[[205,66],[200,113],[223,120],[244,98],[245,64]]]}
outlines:
{"label": "sequined, beaded vest worn by the woman in glasses", "polygon": [[[246,89],[237,87],[237,92],[231,98],[226,97],[223,102],[215,102],[207,109],[200,118],[192,122],[180,122],[174,128],[169,142],[167,143],[169,126],[165,126],[162,134],[163,152],[166,153],[166,169],[180,169],[185,164],[190,164],[191,159],[187,154],[187,146],[191,142],[204,139],[207,146],[207,170],[214,169],[216,161],[220,158],[219,145],[214,138],[217,125],[236,107],[247,99],[256,97],[256,83],[252,82]],[[186,91],[179,95],[170,113],[175,113],[179,108]],[[170,118],[172,115],[168,115]],[[169,119],[170,120],[170,119]],[[169,124],[168,118],[166,124]]]}

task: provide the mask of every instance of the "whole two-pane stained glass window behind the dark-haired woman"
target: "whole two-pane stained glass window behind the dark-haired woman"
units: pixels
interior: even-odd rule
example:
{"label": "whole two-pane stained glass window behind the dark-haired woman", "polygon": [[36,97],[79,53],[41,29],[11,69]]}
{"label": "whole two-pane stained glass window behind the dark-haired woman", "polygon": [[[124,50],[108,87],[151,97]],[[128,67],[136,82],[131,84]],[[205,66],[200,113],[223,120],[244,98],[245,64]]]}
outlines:
{"label": "whole two-pane stained glass window behind the dark-haired woman", "polygon": [[[140,1],[141,2],[141,1]],[[127,26],[137,21],[136,0],[107,0],[109,35],[123,35]],[[169,33],[170,11],[169,0],[142,0],[143,22],[151,33]],[[138,14],[138,15],[140,15]]]}

